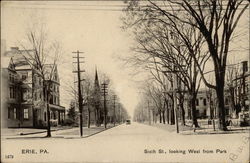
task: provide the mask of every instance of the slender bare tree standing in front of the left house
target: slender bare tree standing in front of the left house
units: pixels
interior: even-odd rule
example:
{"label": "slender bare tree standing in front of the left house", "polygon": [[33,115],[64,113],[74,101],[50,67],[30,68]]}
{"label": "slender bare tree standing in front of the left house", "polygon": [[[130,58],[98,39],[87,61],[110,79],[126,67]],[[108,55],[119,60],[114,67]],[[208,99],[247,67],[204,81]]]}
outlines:
{"label": "slender bare tree standing in front of the left house", "polygon": [[26,51],[23,57],[30,64],[34,73],[42,78],[43,99],[47,110],[47,137],[51,137],[49,101],[52,97],[51,87],[58,78],[56,69],[61,47],[58,42],[49,42],[48,34],[43,26],[30,28],[26,37],[27,44],[20,42]]}

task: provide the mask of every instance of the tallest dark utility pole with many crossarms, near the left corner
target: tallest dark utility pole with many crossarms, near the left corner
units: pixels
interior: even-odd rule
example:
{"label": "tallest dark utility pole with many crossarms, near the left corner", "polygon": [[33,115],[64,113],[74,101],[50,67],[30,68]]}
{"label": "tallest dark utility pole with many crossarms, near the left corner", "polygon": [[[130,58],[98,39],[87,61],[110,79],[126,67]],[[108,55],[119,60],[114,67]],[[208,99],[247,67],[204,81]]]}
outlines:
{"label": "tallest dark utility pole with many crossarms, near the left corner", "polygon": [[78,78],[78,104],[79,104],[79,113],[80,113],[80,136],[82,137],[83,133],[82,133],[82,109],[83,109],[83,98],[82,98],[82,91],[81,91],[81,81],[83,81],[81,79],[81,72],[85,72],[84,70],[80,69],[80,58],[84,58],[84,57],[80,57],[79,54],[83,53],[83,52],[79,52],[78,50],[76,52],[72,52],[72,53],[76,53],[77,56],[73,57],[77,59],[77,62],[73,62],[73,63],[77,63],[77,71],[73,71],[73,73],[77,73],[77,78]]}

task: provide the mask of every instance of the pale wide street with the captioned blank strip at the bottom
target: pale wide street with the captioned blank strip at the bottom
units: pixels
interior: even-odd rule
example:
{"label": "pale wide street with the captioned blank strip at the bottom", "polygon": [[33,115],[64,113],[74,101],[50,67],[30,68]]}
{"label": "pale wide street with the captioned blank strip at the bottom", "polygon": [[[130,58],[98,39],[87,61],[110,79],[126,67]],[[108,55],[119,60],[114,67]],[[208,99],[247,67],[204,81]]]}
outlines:
{"label": "pale wide street with the captioned blank strip at the bottom", "polygon": [[[55,131],[53,135],[56,135],[56,132],[63,133]],[[2,148],[4,162],[204,162],[206,160],[247,162],[249,160],[248,133],[177,135],[174,132],[133,122],[131,125],[122,124],[86,138],[2,139],[2,147],[4,147]],[[34,149],[33,154],[30,151],[24,154],[23,150],[26,149]],[[175,150],[178,150],[178,153]],[[196,150],[198,153],[189,153],[189,150]],[[212,150],[212,153],[204,153],[203,150]],[[7,155],[13,155],[14,158],[9,156],[10,158],[6,159]]]}

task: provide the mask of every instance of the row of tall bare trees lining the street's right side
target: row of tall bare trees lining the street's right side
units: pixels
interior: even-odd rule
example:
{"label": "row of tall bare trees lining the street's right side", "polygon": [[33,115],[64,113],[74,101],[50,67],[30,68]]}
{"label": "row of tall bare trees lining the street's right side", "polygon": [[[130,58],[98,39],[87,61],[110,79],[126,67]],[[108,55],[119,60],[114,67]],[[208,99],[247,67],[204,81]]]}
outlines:
{"label": "row of tall bare trees lining the street's right side", "polygon": [[[187,99],[191,108],[188,114],[193,125],[199,127],[195,100],[203,82],[215,90],[218,128],[227,130],[224,87],[228,53],[234,31],[248,6],[247,0],[128,2],[122,18],[123,28],[134,35],[136,44],[132,47],[133,55],[126,61],[150,72],[152,82],[145,86],[147,98],[142,103],[150,99],[160,121],[165,122],[165,108],[168,108],[166,117],[170,124],[178,120],[175,112],[178,100],[185,125],[183,102]],[[215,82],[206,77],[208,62],[212,62]],[[145,107],[138,105],[135,119],[143,120],[140,108]]]}

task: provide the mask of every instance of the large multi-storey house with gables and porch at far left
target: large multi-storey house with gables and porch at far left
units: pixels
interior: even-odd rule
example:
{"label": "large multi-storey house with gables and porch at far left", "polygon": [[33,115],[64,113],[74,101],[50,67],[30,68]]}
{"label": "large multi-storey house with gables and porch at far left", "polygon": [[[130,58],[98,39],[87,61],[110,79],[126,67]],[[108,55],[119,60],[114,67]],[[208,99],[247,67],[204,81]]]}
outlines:
{"label": "large multi-storey house with gables and porch at far left", "polygon": [[[4,53],[2,65],[2,117],[3,127],[45,127],[47,110],[44,103],[43,83],[46,82],[28,62],[33,50],[11,48]],[[3,60],[2,60],[3,63]],[[51,65],[44,65],[52,72]],[[60,106],[59,77],[57,67],[53,69],[52,98],[50,99],[51,122],[62,124],[65,108]],[[46,72],[45,72],[46,74]],[[7,117],[7,119],[6,119]]]}

